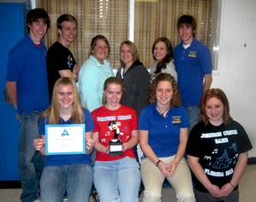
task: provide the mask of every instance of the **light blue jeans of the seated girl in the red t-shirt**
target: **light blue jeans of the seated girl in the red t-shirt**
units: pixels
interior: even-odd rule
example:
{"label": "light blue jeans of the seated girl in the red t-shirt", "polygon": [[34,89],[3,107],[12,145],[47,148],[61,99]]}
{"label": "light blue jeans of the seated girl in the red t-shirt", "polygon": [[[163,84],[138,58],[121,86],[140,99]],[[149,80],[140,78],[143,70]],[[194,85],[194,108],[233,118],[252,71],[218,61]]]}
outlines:
{"label": "light blue jeans of the seated girl in the red t-shirt", "polygon": [[138,202],[140,169],[135,158],[96,161],[93,182],[100,202]]}

